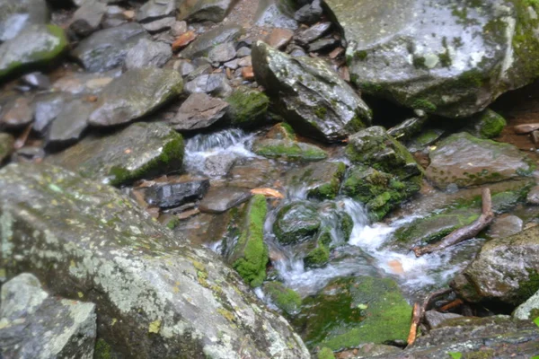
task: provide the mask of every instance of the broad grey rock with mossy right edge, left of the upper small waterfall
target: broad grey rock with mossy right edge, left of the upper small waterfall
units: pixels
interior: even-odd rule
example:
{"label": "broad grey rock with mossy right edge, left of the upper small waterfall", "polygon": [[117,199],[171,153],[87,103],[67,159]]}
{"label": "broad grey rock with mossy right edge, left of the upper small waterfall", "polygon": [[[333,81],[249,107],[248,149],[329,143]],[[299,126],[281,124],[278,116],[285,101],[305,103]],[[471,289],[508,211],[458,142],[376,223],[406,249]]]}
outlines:
{"label": "broad grey rock with mossy right edge, left of the upper small waterfall", "polygon": [[163,124],[136,123],[109,136],[86,137],[51,161],[119,186],[180,169],[183,139]]}

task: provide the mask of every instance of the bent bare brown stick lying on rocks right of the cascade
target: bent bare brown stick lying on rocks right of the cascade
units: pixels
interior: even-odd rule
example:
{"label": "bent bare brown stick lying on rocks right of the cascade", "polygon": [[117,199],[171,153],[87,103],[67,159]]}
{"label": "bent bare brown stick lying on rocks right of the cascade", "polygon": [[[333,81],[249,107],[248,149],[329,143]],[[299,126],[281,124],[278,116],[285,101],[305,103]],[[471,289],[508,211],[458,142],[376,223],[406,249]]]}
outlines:
{"label": "bent bare brown stick lying on rocks right of the cascade", "polygon": [[429,244],[425,247],[414,247],[411,250],[415,253],[416,257],[421,257],[424,254],[432,253],[437,250],[444,250],[447,247],[454,246],[461,241],[469,240],[475,237],[479,232],[490,225],[494,220],[494,213],[492,212],[492,200],[490,197],[490,189],[483,188],[482,190],[482,214],[473,223],[468,224],[456,231],[453,231],[446,235],[441,241],[434,244]]}

